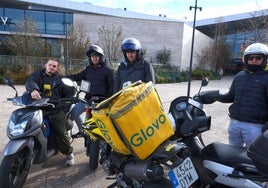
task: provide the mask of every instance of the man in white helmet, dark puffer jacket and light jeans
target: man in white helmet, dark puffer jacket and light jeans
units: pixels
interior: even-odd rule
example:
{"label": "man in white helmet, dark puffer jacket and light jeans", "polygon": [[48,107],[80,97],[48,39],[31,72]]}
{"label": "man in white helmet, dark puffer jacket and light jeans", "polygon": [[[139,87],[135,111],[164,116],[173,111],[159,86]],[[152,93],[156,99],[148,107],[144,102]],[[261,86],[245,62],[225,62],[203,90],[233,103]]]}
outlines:
{"label": "man in white helmet, dark puffer jacket and light jeans", "polygon": [[229,143],[232,145],[249,147],[262,133],[268,121],[268,72],[265,70],[267,57],[266,45],[249,45],[243,56],[246,70],[235,76],[229,92],[216,97],[201,94],[204,103],[215,100],[232,103],[229,107],[228,127]]}

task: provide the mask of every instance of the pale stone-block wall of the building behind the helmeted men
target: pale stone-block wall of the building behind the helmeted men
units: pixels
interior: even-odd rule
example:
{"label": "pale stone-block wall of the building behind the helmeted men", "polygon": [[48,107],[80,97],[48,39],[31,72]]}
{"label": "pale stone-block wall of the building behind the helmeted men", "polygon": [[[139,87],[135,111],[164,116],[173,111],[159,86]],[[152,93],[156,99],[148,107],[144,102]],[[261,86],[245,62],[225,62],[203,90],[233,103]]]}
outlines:
{"label": "pale stone-block wall of the building behind the helmeted men", "polygon": [[[157,63],[157,52],[164,47],[171,51],[171,64],[187,70],[190,62],[192,27],[179,21],[121,18],[107,15],[74,14],[74,23],[85,25],[90,41],[98,42],[98,29],[103,25],[121,26],[124,37],[135,37],[146,49],[145,59]],[[210,38],[195,31],[195,50],[209,43]],[[196,60],[194,59],[194,63]]]}

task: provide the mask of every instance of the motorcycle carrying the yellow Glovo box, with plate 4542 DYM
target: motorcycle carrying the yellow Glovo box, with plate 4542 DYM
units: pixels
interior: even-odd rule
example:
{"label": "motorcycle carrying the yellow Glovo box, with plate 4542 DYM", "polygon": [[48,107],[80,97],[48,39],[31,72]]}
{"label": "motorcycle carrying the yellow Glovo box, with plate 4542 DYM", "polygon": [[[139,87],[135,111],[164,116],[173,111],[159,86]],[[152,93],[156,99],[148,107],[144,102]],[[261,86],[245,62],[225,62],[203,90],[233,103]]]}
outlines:
{"label": "motorcycle carrying the yellow Glovo box, with plate 4542 DYM", "polygon": [[102,134],[100,164],[114,180],[109,188],[199,187],[189,148],[169,139],[174,131],[151,82],[99,103],[93,118]]}

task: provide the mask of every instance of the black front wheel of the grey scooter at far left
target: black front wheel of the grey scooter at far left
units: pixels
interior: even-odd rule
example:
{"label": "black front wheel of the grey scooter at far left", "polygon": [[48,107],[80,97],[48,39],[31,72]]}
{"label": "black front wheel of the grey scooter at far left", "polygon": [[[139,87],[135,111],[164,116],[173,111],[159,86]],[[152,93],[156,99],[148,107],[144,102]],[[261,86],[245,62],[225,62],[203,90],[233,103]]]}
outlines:
{"label": "black front wheel of the grey scooter at far left", "polygon": [[25,183],[32,160],[27,149],[4,156],[0,166],[0,188],[19,188]]}

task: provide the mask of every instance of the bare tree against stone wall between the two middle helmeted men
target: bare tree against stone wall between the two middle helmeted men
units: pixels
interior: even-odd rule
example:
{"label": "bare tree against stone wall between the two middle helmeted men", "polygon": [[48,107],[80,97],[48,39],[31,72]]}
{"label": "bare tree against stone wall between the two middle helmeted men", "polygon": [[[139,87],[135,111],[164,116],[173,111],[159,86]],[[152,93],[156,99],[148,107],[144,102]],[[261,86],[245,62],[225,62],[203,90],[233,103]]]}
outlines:
{"label": "bare tree against stone wall between the two middle helmeted men", "polygon": [[122,58],[121,43],[123,41],[122,27],[104,25],[99,28],[99,45],[103,48],[109,63],[117,62]]}

